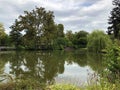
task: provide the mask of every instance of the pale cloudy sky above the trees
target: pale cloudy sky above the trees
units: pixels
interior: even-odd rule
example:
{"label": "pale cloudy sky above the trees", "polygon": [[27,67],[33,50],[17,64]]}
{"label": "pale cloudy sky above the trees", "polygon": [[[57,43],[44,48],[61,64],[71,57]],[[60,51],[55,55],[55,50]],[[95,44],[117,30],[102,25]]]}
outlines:
{"label": "pale cloudy sky above the trees", "polygon": [[0,0],[0,22],[7,33],[10,26],[24,11],[44,7],[54,12],[55,22],[64,25],[65,32],[95,29],[107,31],[112,0]]}

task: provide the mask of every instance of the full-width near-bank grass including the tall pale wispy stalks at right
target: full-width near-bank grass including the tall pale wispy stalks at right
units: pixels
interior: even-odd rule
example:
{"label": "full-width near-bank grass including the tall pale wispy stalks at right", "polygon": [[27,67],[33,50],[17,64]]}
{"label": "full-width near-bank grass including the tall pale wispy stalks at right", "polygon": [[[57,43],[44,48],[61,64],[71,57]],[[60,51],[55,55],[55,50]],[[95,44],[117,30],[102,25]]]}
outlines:
{"label": "full-width near-bank grass including the tall pale wispy stalks at right", "polygon": [[87,84],[79,87],[71,84],[45,85],[31,79],[14,81],[10,79],[7,83],[0,83],[0,90],[120,90],[120,82],[116,80],[115,83],[110,83],[106,78],[98,79],[95,74],[89,77]]}

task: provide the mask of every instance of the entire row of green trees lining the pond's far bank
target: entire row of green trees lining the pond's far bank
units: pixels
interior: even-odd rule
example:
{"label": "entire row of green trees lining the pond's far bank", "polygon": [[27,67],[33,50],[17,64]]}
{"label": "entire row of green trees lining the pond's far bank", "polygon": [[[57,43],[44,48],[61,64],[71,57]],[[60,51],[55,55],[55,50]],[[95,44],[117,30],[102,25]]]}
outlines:
{"label": "entire row of green trees lining the pond's far bank", "polygon": [[46,11],[42,7],[36,7],[30,12],[24,11],[24,15],[20,15],[10,28],[11,31],[7,35],[4,26],[0,24],[0,46],[28,50],[62,50],[68,47],[93,50],[96,48],[93,51],[98,52],[105,49],[108,45],[106,38],[109,38],[99,30],[90,34],[84,30],[75,33],[67,30],[64,33],[64,25],[56,24],[53,12]]}

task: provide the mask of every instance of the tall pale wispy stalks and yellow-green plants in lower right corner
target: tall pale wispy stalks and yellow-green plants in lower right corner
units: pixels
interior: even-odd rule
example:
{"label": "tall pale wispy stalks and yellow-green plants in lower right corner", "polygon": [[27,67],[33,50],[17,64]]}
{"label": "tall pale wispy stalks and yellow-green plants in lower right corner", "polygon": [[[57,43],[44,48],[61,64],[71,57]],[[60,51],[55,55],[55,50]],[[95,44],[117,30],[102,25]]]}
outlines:
{"label": "tall pale wispy stalks and yellow-green plants in lower right corner", "polygon": [[[102,75],[101,75],[102,74]],[[90,75],[90,74],[89,74]],[[111,83],[105,77],[106,73],[90,75],[88,84],[85,84],[82,90],[119,90],[120,83]],[[119,79],[118,79],[119,81]]]}

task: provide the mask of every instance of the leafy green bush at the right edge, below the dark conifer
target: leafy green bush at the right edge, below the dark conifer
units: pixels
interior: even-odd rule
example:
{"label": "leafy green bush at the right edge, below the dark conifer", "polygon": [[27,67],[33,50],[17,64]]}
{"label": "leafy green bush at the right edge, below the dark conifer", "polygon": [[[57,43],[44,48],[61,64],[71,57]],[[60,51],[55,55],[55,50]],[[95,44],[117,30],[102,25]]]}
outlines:
{"label": "leafy green bush at the right edge, below the dark conifer", "polygon": [[105,59],[108,80],[115,83],[120,79],[120,47],[113,44],[111,48],[107,49]]}

